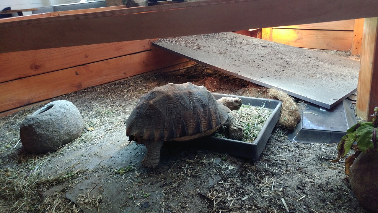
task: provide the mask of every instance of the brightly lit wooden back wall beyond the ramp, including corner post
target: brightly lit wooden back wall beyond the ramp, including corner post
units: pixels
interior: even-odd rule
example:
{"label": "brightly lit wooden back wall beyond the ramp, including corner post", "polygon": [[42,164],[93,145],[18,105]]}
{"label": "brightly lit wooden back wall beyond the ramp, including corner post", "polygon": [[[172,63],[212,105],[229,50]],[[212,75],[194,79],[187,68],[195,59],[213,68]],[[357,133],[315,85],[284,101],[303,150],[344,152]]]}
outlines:
{"label": "brightly lit wooden back wall beyond the ramp, including corner post", "polygon": [[364,19],[262,28],[262,39],[311,49],[361,54]]}

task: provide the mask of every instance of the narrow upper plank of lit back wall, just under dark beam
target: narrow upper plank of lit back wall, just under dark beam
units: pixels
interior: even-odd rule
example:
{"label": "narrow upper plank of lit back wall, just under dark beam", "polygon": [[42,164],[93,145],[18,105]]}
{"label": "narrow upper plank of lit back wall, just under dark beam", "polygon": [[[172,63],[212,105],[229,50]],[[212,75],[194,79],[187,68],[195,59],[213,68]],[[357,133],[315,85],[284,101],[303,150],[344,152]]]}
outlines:
{"label": "narrow upper plank of lit back wall, just under dark beam", "polygon": [[274,28],[285,29],[307,29],[307,30],[353,30],[355,24],[354,19],[341,20],[333,22],[309,23],[301,25],[290,25]]}

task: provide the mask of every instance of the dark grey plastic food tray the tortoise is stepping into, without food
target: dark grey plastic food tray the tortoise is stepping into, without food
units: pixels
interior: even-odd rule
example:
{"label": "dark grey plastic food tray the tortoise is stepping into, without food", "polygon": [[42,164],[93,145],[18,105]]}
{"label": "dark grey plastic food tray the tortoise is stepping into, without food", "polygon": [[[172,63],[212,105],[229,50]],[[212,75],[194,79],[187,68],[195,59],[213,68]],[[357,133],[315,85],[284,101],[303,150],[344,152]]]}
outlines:
{"label": "dark grey plastic food tray the tortoise is stepping into, without food", "polygon": [[[242,99],[243,104],[251,106],[262,106],[264,108],[270,109],[272,112],[271,116],[265,122],[262,127],[261,132],[257,136],[257,138],[253,141],[253,143],[247,143],[243,141],[237,141],[227,138],[218,138],[215,136],[199,138],[190,142],[186,142],[189,144],[181,144],[183,146],[191,146],[191,147],[199,147],[200,149],[211,150],[214,152],[220,153],[227,153],[229,155],[234,155],[238,157],[244,158],[251,158],[257,159],[259,158],[262,150],[265,147],[266,142],[270,138],[270,135],[273,131],[274,126],[278,122],[278,118],[280,116],[282,102],[279,100],[271,100],[271,99],[260,99],[254,97],[245,97],[245,96],[232,96],[232,95],[225,95],[225,94],[217,94],[212,93],[215,99],[220,99],[224,96],[230,97],[239,97]],[[164,143],[166,145],[167,142]],[[181,143],[181,142],[180,142]],[[179,146],[177,142],[167,143],[175,146]],[[168,145],[169,146],[169,145]]]}

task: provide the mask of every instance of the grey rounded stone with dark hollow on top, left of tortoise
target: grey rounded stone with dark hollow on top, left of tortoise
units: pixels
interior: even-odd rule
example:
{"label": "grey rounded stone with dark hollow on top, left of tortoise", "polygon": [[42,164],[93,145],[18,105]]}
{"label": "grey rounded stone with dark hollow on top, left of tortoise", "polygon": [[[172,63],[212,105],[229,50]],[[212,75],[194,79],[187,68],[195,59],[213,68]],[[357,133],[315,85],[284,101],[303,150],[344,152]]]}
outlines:
{"label": "grey rounded stone with dark hollow on top, left of tortoise", "polygon": [[20,138],[27,152],[48,153],[78,138],[83,130],[77,107],[67,100],[57,100],[25,117]]}

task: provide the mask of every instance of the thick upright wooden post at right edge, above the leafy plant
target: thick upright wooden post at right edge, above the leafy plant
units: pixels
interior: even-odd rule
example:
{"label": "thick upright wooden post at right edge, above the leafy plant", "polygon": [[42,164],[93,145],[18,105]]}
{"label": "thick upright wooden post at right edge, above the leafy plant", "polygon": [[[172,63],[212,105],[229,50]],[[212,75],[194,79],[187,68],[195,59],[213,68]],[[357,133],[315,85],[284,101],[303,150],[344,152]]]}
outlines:
{"label": "thick upright wooden post at right edge, above the leafy plant", "polygon": [[363,34],[356,113],[371,121],[370,115],[378,107],[378,17],[365,19]]}

